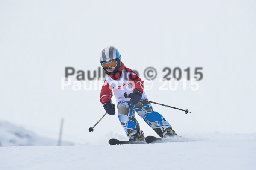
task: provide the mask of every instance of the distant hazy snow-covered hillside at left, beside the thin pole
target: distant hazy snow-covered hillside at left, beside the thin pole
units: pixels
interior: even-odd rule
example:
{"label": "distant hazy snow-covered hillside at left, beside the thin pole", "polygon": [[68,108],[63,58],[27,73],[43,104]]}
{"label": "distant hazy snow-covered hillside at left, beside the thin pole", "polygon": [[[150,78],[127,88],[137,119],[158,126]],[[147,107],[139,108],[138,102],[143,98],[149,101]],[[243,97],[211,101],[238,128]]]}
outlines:
{"label": "distant hazy snow-covered hillside at left, beside the thin pole", "polygon": [[[0,121],[0,146],[56,146],[57,142],[57,139],[38,136],[23,127]],[[62,141],[61,143],[62,145],[73,145],[68,141]]]}

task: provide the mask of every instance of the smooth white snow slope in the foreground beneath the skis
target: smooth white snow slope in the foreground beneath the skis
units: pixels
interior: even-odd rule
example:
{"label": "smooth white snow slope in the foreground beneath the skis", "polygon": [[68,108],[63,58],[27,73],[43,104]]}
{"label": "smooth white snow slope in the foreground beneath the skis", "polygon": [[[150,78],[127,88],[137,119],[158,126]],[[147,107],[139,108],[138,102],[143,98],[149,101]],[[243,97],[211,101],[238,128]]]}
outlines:
{"label": "smooth white snow slope in the foreground beneath the skis", "polygon": [[[193,136],[193,137],[192,137]],[[2,170],[253,170],[256,133],[195,134],[184,142],[0,147]]]}

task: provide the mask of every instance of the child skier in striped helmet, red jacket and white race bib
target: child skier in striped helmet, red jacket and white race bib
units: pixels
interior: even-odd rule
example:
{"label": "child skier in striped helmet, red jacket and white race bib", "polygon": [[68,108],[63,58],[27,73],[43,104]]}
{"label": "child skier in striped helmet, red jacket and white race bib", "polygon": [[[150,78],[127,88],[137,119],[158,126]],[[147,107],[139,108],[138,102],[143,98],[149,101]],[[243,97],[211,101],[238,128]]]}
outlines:
{"label": "child skier in striped helmet, red jacket and white race bib", "polygon": [[[106,79],[100,92],[100,102],[109,115],[115,115],[115,105],[111,103],[114,92],[118,104],[118,118],[129,141],[144,140],[144,134],[135,118],[135,111],[161,138],[176,135],[168,121],[153,110],[150,102],[141,100],[147,100],[143,90],[144,82],[135,72],[124,66],[121,55],[115,47],[109,46],[102,50],[100,63],[106,72]],[[132,97],[125,98],[125,92],[132,93]]]}

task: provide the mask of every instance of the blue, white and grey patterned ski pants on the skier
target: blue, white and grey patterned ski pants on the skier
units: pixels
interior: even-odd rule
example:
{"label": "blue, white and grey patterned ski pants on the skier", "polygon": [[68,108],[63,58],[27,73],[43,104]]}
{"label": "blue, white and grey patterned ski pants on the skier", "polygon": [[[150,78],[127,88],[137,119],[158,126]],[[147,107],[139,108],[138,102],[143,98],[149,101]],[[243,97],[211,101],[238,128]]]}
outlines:
{"label": "blue, white and grey patterned ski pants on the skier", "polygon": [[[144,99],[147,100],[147,98]],[[153,111],[150,102],[140,101],[134,105],[129,101],[120,101],[118,102],[118,118],[127,136],[131,130],[140,129],[134,110],[160,137],[162,137],[164,130],[172,128],[161,114]]]}

